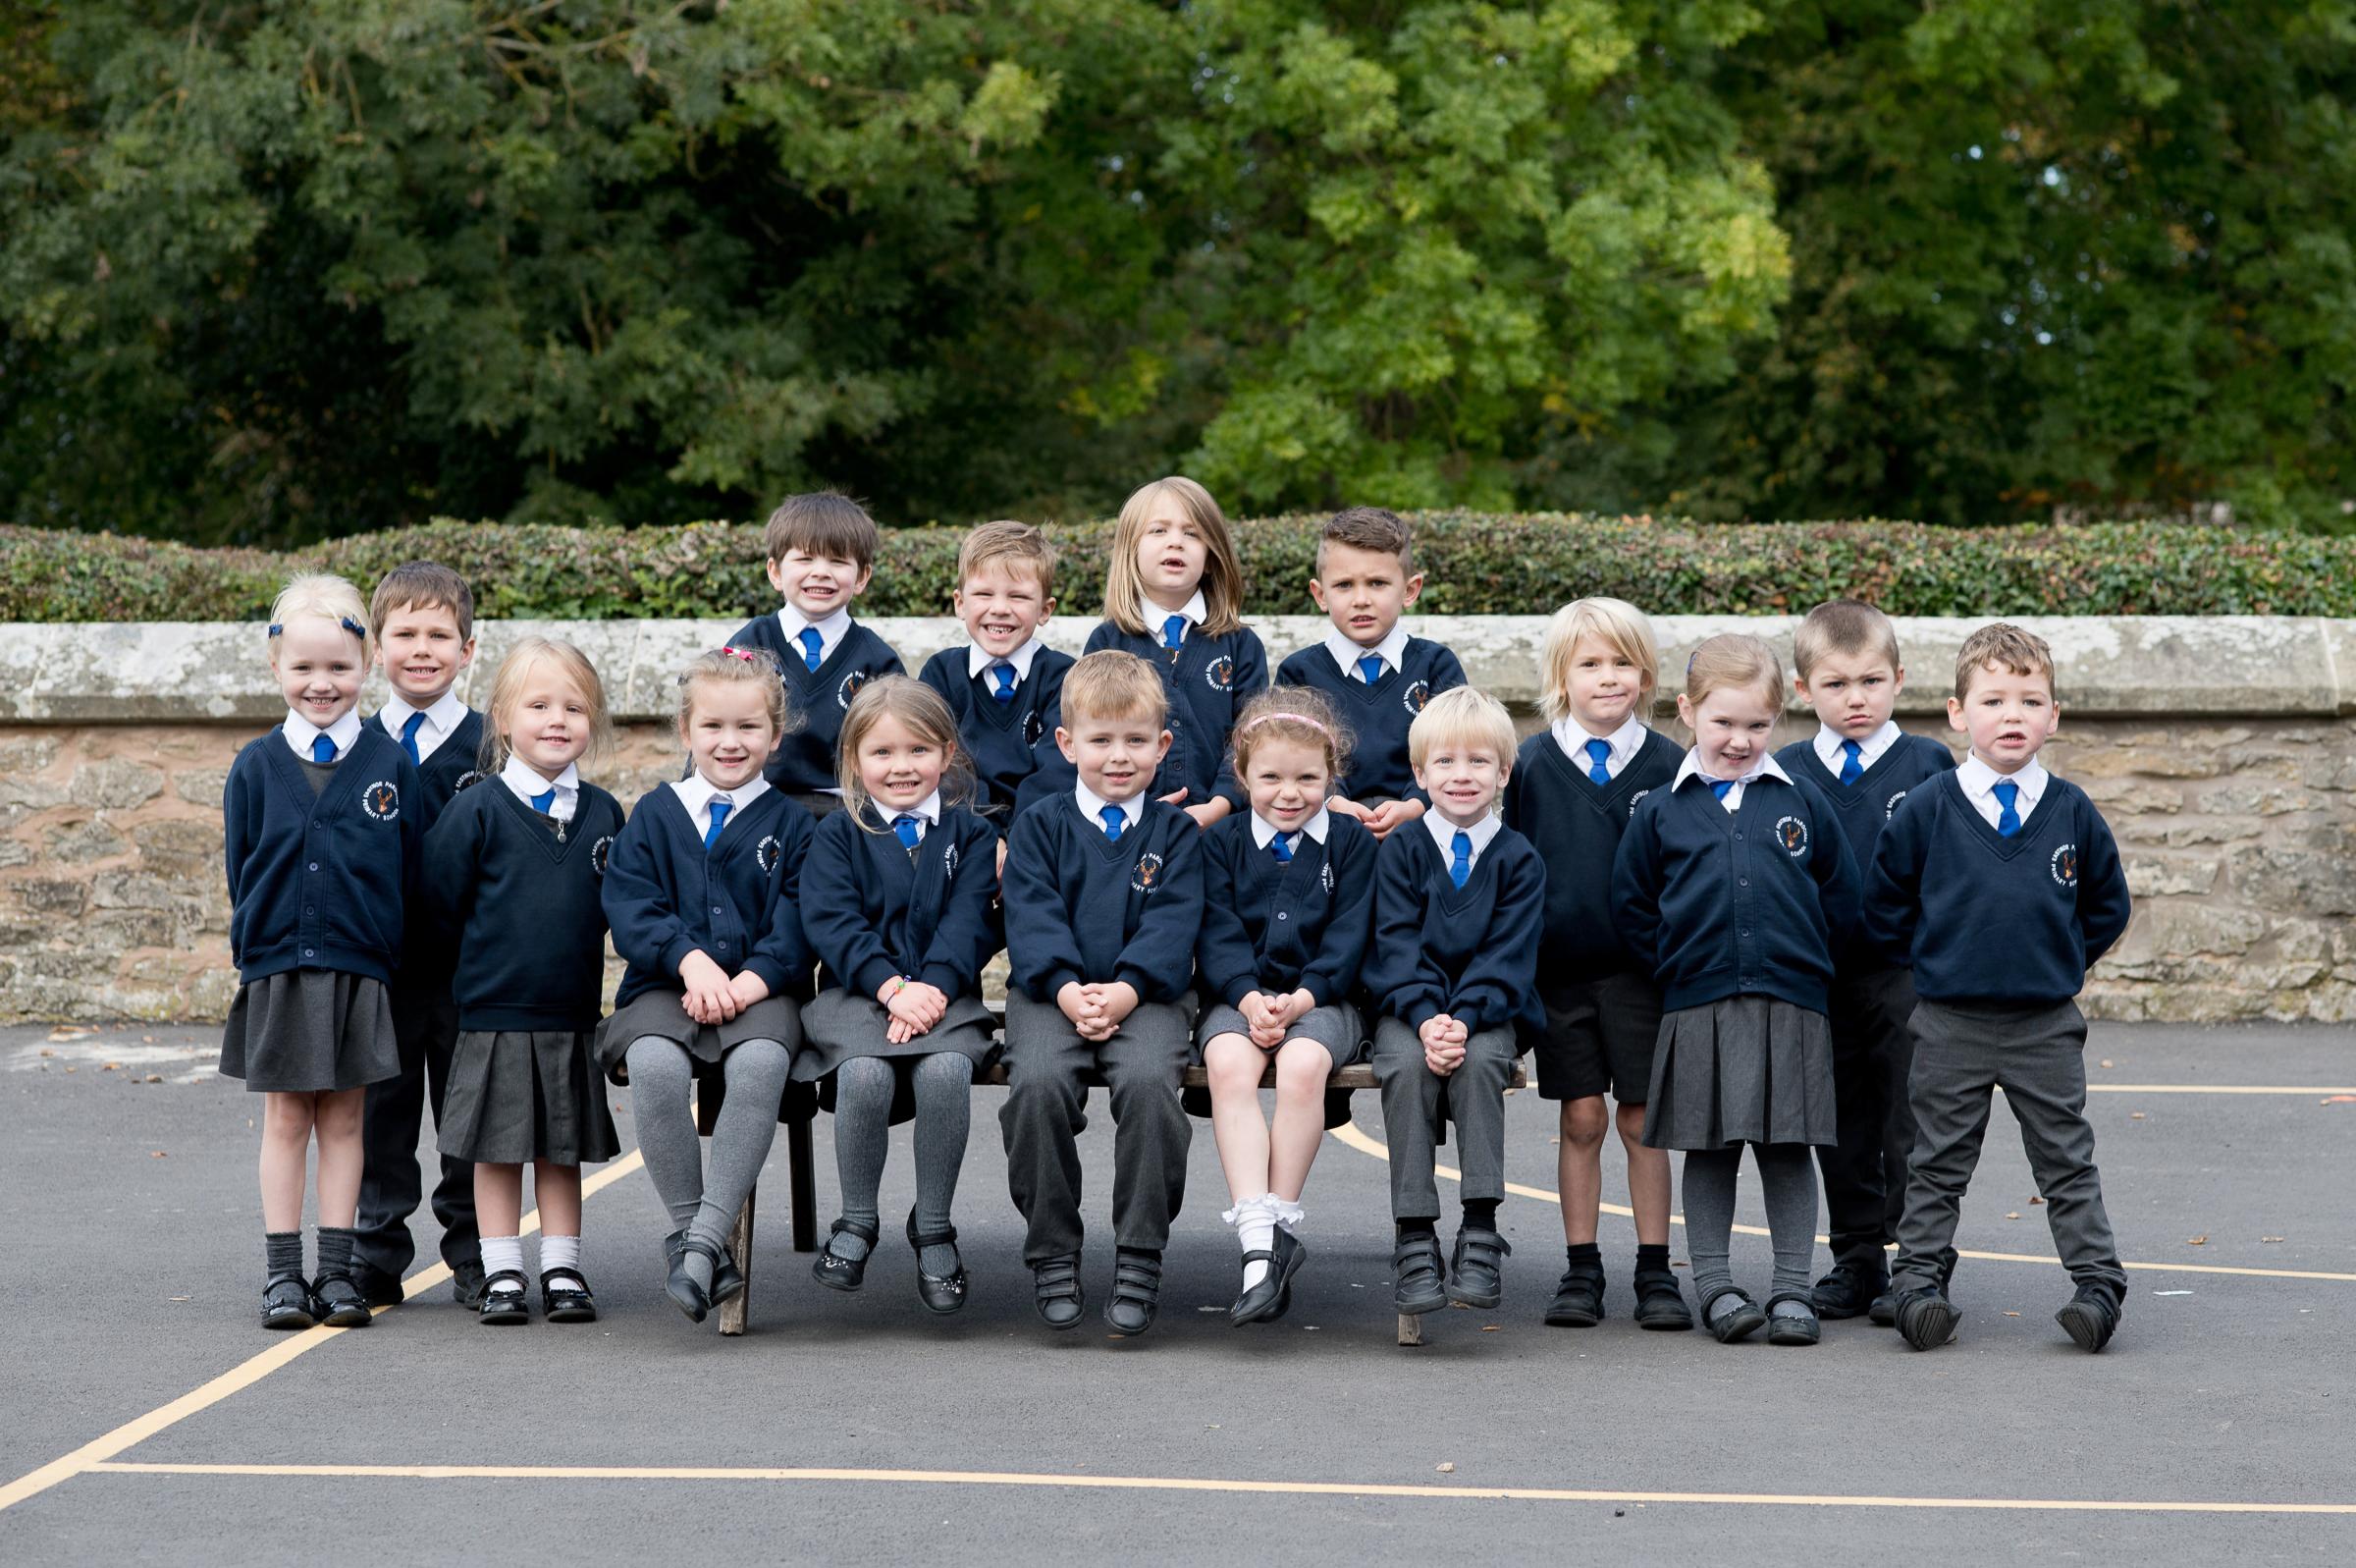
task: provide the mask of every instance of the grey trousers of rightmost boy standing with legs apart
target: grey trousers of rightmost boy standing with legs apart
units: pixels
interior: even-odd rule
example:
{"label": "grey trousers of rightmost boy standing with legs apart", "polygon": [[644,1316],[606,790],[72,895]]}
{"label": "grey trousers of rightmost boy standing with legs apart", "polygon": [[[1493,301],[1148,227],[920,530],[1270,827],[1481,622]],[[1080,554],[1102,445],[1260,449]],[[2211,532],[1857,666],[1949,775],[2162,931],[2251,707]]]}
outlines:
{"label": "grey trousers of rightmost boy standing with legs apart", "polygon": [[1963,1188],[1988,1134],[1991,1089],[2005,1092],[2021,1125],[2029,1170],[2045,1195],[2054,1252],[2080,1285],[2127,1294],[2111,1217],[2094,1170],[2094,1127],[2085,1120],[2085,1016],[2076,1002],[1986,1007],[1918,1002],[1908,1099],[1915,1118],[1906,1212],[1899,1217],[1894,1290],[1939,1283],[1939,1257],[1955,1240]]}

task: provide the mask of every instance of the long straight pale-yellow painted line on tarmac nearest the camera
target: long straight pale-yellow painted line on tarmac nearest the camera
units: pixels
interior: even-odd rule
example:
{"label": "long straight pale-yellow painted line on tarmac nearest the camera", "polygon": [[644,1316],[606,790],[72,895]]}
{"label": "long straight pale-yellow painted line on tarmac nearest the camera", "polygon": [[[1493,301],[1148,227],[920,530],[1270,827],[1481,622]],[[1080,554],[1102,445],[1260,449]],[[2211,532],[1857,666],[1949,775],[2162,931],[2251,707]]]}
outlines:
{"label": "long straight pale-yellow painted line on tarmac nearest the camera", "polygon": [[1352,1481],[1230,1481],[1218,1476],[1058,1476],[973,1469],[806,1469],[660,1464],[92,1464],[104,1476],[271,1476],[384,1481],[865,1481],[900,1485],[1023,1485],[1112,1493],[1263,1493],[1279,1497],[1409,1497],[1418,1502],[1696,1502],[1809,1509],[1996,1509],[2010,1514],[2356,1514],[2356,1502],[2210,1502],[2144,1497],[1880,1497],[1842,1493],[1656,1493],[1555,1485],[1402,1485]]}

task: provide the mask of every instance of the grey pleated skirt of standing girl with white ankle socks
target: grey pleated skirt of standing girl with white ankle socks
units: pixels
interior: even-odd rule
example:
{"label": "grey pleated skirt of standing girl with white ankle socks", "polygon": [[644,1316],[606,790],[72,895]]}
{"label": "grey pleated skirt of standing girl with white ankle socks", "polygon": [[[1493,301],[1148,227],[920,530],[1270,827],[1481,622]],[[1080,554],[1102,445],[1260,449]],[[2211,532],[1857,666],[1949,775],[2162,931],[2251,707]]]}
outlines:
{"label": "grey pleated skirt of standing girl with white ankle socks", "polygon": [[622,1153],[591,1063],[594,1030],[464,1030],[450,1052],[438,1144],[478,1165],[594,1165]]}

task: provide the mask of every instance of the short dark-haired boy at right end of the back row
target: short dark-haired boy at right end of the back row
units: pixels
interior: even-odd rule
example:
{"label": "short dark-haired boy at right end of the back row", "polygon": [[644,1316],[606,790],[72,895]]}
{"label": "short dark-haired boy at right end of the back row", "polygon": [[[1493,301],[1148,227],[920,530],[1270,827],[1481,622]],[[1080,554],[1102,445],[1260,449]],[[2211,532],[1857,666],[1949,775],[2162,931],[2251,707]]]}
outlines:
{"label": "short dark-haired boy at right end of the back row", "polygon": [[1310,582],[1333,630],[1277,667],[1277,686],[1312,686],[1350,714],[1350,795],[1326,806],[1364,823],[1376,842],[1430,809],[1407,762],[1407,726],[1435,696],[1465,684],[1454,653],[1399,625],[1418,594],[1423,573],[1407,521],[1381,507],[1336,512],[1317,535]]}

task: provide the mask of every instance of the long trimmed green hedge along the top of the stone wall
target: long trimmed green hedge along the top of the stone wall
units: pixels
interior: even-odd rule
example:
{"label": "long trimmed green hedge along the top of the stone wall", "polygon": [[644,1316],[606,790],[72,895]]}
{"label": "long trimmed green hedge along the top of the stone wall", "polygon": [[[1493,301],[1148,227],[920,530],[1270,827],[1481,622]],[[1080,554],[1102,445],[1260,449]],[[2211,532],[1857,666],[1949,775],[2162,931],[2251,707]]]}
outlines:
{"label": "long trimmed green hedge along the top of the stone wall", "polygon": [[[1058,597],[1093,615],[1110,523],[1051,526]],[[945,613],[954,528],[900,528],[867,615]],[[1317,519],[1237,526],[1251,613],[1310,613]],[[1423,611],[1541,613],[1579,594],[1647,611],[1769,615],[1859,594],[1894,615],[2356,615],[2356,540],[2090,523],[1685,523],[1628,516],[1428,512],[1416,519]],[[474,582],[483,615],[747,618],[775,606],[752,523],[547,528],[441,521],[302,554],[188,549],[118,535],[0,528],[0,620],[262,620],[294,568],[365,592],[429,556]]]}

